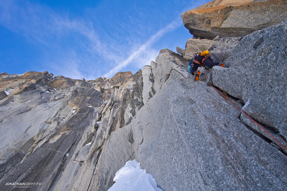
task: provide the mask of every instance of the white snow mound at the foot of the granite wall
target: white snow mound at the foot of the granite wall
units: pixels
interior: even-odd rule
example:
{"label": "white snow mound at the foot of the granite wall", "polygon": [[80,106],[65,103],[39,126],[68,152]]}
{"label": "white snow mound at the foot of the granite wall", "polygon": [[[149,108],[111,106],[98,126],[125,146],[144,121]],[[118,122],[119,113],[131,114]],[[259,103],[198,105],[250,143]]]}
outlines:
{"label": "white snow mound at the foot of the granite wall", "polygon": [[141,169],[136,160],[127,161],[115,174],[114,182],[108,191],[163,191],[157,187],[153,176]]}

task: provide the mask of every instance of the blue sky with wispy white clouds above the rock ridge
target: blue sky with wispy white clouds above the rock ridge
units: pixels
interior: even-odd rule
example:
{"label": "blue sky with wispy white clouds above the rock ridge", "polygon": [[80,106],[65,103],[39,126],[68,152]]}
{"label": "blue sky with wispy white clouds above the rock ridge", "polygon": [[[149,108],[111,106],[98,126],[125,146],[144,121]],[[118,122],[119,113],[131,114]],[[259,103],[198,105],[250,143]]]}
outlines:
{"label": "blue sky with wispy white clouds above the rock ridge", "polygon": [[181,14],[209,1],[0,1],[0,73],[86,80],[133,74],[185,48]]}

